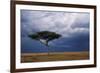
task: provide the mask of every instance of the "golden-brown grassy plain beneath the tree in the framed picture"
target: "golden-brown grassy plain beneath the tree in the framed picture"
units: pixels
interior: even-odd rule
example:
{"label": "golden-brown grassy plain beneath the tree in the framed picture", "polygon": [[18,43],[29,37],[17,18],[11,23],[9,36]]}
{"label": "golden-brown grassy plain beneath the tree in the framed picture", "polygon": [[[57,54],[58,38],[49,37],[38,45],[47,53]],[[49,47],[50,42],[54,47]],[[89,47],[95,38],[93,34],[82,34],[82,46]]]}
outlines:
{"label": "golden-brown grassy plain beneath the tree in the framed picture", "polygon": [[89,52],[22,53],[21,62],[46,62],[89,59]]}

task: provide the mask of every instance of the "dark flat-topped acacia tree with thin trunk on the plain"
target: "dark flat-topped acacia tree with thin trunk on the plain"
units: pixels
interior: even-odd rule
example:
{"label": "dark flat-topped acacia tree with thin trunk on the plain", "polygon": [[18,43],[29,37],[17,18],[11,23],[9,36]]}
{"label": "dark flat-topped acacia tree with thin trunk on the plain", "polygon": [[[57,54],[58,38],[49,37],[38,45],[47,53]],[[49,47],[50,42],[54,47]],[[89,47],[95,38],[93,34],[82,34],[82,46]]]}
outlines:
{"label": "dark flat-topped acacia tree with thin trunk on the plain", "polygon": [[[41,31],[34,34],[30,34],[29,37],[33,40],[40,41],[45,46],[49,47],[48,43],[52,40],[58,39],[61,37],[60,34],[50,31]],[[48,55],[49,55],[49,48],[48,48]]]}

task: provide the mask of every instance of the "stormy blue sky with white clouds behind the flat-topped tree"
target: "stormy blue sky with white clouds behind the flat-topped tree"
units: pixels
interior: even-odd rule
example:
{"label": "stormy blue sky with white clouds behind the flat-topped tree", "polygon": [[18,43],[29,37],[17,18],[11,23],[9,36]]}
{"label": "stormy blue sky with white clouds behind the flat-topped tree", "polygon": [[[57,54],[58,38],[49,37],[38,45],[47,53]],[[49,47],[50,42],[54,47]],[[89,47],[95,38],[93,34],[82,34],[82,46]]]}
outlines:
{"label": "stormy blue sky with white clouds behind the flat-topped tree", "polygon": [[48,47],[28,37],[39,31],[62,35],[49,43],[51,51],[88,51],[89,21],[89,13],[21,10],[21,51],[48,51]]}

